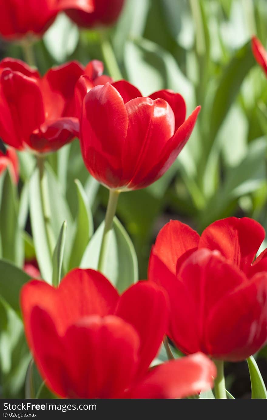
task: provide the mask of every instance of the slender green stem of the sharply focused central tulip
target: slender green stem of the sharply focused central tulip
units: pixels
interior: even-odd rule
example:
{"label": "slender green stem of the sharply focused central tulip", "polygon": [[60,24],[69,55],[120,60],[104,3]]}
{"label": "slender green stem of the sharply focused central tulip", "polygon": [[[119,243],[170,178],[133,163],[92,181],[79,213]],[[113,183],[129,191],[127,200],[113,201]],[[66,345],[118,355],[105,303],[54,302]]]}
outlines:
{"label": "slender green stem of the sharply focused central tulip", "polygon": [[111,231],[113,218],[116,213],[118,199],[119,199],[119,191],[110,189],[109,197],[108,197],[108,207],[107,207],[106,217],[105,217],[105,226],[104,226],[99,259],[98,259],[98,271],[101,271],[102,273],[104,270],[106,253],[108,249],[109,233]]}

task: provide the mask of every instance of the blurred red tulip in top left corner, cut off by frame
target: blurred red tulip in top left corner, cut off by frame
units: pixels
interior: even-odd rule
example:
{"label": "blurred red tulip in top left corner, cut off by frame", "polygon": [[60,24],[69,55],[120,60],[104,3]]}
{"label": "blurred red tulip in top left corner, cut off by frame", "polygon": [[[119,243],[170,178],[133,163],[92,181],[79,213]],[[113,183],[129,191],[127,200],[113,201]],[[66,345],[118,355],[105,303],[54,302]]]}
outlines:
{"label": "blurred red tulip in top left corner, cut off by frame", "polygon": [[0,35],[11,40],[42,36],[65,8],[91,12],[93,0],[0,0]]}

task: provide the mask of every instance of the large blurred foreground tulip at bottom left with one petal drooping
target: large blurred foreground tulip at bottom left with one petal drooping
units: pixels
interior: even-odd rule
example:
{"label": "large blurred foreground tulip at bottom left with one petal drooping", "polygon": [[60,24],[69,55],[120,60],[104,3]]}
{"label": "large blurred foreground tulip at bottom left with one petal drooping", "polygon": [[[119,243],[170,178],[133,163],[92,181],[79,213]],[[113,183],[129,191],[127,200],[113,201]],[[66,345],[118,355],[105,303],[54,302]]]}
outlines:
{"label": "large blurred foreground tulip at bottom left with one petal drooping", "polygon": [[74,269],[58,289],[26,283],[21,308],[37,367],[63,398],[181,398],[210,387],[216,375],[202,354],[148,373],[168,319],[164,292],[153,283],[119,297],[98,271]]}

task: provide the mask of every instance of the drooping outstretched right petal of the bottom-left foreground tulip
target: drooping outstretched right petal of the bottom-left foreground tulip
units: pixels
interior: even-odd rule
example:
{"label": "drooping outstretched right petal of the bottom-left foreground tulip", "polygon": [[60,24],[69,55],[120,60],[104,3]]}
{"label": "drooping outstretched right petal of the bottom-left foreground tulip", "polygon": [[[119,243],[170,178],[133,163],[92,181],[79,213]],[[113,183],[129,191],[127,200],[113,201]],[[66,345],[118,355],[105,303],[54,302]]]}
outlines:
{"label": "drooping outstretched right petal of the bottom-left foreground tulip", "polygon": [[192,354],[155,367],[130,390],[130,398],[184,398],[212,388],[216,375],[216,367],[208,357]]}

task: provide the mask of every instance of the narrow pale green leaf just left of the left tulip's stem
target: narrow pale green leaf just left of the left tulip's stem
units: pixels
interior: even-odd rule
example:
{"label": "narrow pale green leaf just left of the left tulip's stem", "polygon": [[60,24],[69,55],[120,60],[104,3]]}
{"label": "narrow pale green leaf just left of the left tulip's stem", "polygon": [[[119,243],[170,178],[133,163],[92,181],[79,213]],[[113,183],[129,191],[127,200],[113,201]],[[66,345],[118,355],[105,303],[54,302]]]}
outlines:
{"label": "narrow pale green leaf just left of the left tulip's stem", "polygon": [[45,228],[40,194],[40,175],[36,168],[29,181],[30,216],[34,248],[42,278],[50,282],[52,278],[52,258]]}

